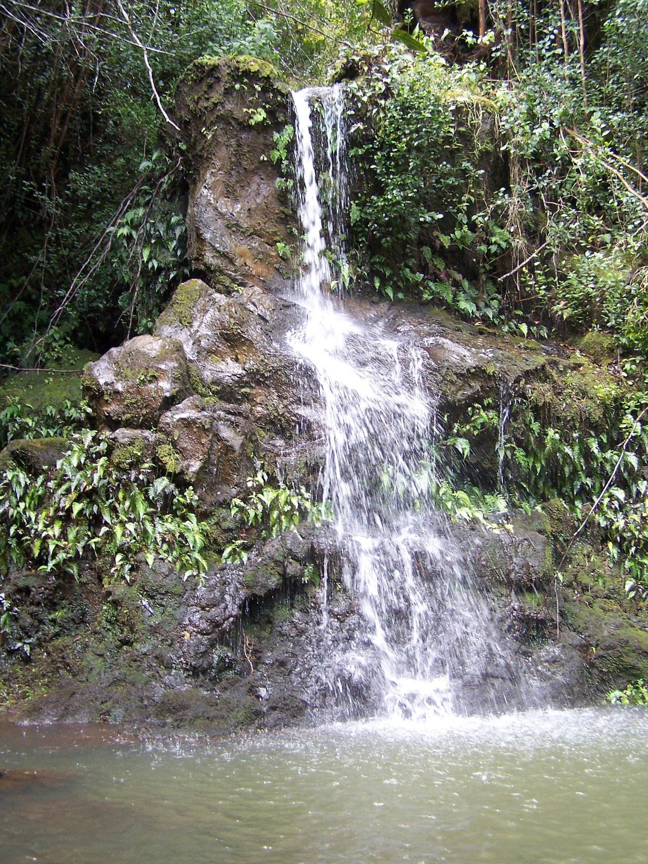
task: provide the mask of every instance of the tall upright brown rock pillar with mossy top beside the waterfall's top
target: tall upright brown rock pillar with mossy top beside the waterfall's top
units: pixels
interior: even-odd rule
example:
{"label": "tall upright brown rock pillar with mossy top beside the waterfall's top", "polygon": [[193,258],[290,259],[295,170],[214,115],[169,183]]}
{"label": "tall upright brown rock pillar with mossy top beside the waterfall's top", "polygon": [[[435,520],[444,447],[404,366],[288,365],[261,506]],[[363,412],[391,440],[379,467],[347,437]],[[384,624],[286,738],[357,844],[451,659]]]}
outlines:
{"label": "tall upright brown rock pillar with mossy top beside the waterfall's top", "polygon": [[270,160],[288,122],[287,93],[268,63],[245,57],[196,60],[178,86],[189,255],[221,289],[287,284],[276,244],[289,244],[291,225]]}

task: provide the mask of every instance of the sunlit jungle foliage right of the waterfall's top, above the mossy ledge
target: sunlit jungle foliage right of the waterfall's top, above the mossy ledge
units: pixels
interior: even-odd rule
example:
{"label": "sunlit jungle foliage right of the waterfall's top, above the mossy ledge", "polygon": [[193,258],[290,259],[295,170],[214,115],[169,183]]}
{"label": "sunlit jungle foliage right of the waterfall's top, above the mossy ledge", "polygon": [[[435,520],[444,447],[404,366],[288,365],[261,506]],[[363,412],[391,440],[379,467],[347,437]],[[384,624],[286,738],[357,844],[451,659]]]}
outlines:
{"label": "sunlit jungle foliage right of the waterfall's top, above the mossy ledge", "polygon": [[349,55],[356,272],[523,335],[600,327],[643,356],[648,4],[567,8],[493,3],[461,65],[427,37]]}

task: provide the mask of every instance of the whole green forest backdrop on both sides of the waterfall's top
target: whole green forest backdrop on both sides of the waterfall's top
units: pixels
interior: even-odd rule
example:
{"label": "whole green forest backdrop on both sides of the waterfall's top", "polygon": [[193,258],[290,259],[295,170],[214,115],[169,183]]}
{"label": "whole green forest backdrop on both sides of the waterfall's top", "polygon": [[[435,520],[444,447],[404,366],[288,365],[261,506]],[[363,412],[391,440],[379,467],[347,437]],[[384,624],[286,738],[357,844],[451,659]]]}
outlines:
{"label": "whole green forest backdrop on both sides of the waterfall's top", "polygon": [[[0,16],[4,364],[146,332],[189,273],[173,93],[204,54],[269,60],[295,86],[356,79],[359,285],[523,334],[600,327],[645,355],[648,0],[7,0]],[[430,175],[461,136],[466,158]]]}

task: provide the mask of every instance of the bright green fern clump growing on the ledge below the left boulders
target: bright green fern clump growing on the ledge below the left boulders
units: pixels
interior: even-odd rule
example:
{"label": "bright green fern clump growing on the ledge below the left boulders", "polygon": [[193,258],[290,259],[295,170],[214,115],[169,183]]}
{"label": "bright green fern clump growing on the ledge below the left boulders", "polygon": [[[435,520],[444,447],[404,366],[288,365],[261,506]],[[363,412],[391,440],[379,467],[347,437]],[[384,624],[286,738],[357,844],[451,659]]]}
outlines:
{"label": "bright green fern clump growing on the ledge below the left boulders", "polygon": [[191,487],[181,491],[153,466],[111,466],[106,438],[85,430],[54,471],[0,473],[0,565],[79,576],[92,552],[111,579],[130,581],[136,556],[175,564],[183,579],[206,569],[206,524]]}

